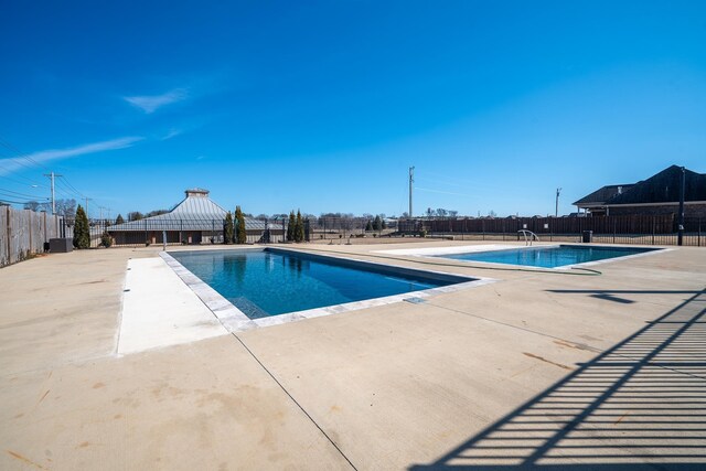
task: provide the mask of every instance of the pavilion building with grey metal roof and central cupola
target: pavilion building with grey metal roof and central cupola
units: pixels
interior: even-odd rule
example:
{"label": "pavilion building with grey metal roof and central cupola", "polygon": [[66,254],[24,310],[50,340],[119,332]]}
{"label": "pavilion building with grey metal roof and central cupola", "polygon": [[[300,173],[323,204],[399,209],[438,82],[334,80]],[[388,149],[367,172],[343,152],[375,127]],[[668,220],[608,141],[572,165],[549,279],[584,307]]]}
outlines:
{"label": "pavilion building with grey metal roof and central cupola", "polygon": [[[116,224],[107,231],[116,245],[162,244],[164,235],[167,244],[222,244],[227,211],[211,201],[207,190],[186,190],[185,194],[169,213]],[[281,242],[286,224],[277,221],[267,225],[265,221],[246,217],[247,242],[267,242],[268,237],[269,242]]]}

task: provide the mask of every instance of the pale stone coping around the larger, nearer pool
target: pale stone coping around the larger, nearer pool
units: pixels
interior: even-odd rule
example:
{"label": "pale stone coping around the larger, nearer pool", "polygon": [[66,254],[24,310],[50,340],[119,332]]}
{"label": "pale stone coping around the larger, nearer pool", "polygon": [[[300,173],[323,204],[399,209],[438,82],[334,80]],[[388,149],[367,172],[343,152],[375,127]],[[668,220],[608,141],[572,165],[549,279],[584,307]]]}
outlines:
{"label": "pale stone coping around the larger, nearer pool", "polygon": [[[494,278],[486,277],[469,277],[464,275],[451,274],[438,270],[422,270],[418,268],[399,267],[395,265],[381,264],[376,261],[361,260],[357,258],[343,258],[329,255],[312,254],[306,250],[292,250],[280,247],[247,247],[244,249],[252,250],[265,250],[270,249],[272,251],[284,251],[292,254],[303,254],[314,258],[329,258],[336,261],[345,261],[347,265],[367,265],[385,267],[386,270],[397,270],[400,274],[420,272],[420,274],[434,274],[443,277],[464,278],[469,281],[462,281],[453,285],[429,288],[418,291],[409,291],[400,295],[385,296],[382,298],[365,299],[362,301],[352,301],[343,304],[333,304],[314,309],[307,309],[303,311],[288,312],[284,314],[270,315],[267,318],[250,319],[243,311],[236,308],[231,301],[224,298],[215,289],[208,286],[201,278],[192,274],[186,267],[179,263],[168,251],[160,251],[159,255],[164,263],[179,276],[179,278],[201,299],[201,301],[213,312],[224,328],[231,333],[245,332],[253,329],[259,329],[271,325],[285,324],[303,319],[314,319],[324,315],[339,314],[343,312],[355,311],[360,309],[374,308],[378,306],[392,304],[405,300],[425,299],[431,296],[456,292],[470,288],[475,288],[483,285],[496,282]],[[228,250],[228,249],[225,249]],[[181,251],[181,250],[180,250]],[[206,251],[206,250],[189,250],[189,251]]]}

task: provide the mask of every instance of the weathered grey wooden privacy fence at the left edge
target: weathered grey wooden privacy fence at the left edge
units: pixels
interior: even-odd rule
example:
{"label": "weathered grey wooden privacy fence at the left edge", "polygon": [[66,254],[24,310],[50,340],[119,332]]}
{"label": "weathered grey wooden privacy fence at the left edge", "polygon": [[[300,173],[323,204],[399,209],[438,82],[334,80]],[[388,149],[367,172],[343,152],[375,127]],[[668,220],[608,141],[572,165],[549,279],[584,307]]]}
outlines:
{"label": "weathered grey wooden privacy fence at the left edge", "polygon": [[44,251],[44,243],[58,237],[61,217],[0,206],[0,267]]}

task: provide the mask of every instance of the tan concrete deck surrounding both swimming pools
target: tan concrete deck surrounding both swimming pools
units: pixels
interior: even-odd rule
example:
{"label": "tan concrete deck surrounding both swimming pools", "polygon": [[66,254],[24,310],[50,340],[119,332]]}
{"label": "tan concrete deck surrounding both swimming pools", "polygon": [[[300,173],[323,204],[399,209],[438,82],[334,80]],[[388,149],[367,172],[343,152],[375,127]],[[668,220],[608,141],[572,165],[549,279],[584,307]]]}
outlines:
{"label": "tan concrete deck surrounding both swimming pools", "polygon": [[[469,242],[415,247],[453,245]],[[706,249],[587,276],[381,259],[373,244],[297,248],[499,281],[236,335],[213,323],[215,336],[118,355],[128,264],[159,267],[157,248],[3,268],[0,468],[706,462]]]}

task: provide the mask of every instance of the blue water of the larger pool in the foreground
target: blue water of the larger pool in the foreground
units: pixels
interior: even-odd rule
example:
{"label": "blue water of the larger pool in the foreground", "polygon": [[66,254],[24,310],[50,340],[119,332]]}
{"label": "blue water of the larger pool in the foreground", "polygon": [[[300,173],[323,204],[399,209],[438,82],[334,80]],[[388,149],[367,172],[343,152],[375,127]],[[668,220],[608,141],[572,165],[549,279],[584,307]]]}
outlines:
{"label": "blue water of the larger pool in the foreground", "polygon": [[272,249],[170,255],[250,319],[470,281]]}

